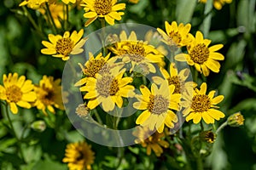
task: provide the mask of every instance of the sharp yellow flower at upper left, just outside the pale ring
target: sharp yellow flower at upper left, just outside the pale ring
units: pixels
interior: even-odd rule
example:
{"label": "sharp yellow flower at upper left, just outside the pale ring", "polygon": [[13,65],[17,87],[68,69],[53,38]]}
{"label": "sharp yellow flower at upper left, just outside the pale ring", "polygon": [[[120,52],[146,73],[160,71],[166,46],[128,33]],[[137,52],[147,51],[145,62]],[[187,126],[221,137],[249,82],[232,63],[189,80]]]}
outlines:
{"label": "sharp yellow flower at upper left, just outside the pale ring", "polygon": [[49,34],[49,42],[42,41],[44,47],[41,49],[42,54],[49,54],[53,57],[61,58],[62,60],[69,59],[70,54],[80,54],[84,51],[82,48],[84,43],[87,41],[87,38],[84,37],[84,30],[81,29],[79,33],[73,31],[70,35],[69,31],[66,31],[61,37],[61,35]]}

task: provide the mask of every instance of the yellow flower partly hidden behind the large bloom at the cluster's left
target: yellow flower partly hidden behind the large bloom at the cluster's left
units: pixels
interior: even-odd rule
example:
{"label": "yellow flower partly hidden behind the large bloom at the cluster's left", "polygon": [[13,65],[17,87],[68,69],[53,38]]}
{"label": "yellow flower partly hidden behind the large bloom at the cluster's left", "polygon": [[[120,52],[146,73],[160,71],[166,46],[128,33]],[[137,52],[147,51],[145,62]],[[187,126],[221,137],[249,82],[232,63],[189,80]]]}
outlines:
{"label": "yellow flower partly hidden behind the large bloom at the cluster's left", "polygon": [[122,65],[115,65],[115,59],[109,59],[109,57],[110,53],[106,57],[104,57],[102,53],[97,54],[96,57],[94,57],[93,54],[89,52],[89,60],[87,60],[84,65],[79,63],[84,73],[84,78],[79,80],[79,82],[76,82],[75,86],[84,85],[90,77],[95,78],[96,73],[101,75],[110,74],[112,69],[120,69],[122,67]]}

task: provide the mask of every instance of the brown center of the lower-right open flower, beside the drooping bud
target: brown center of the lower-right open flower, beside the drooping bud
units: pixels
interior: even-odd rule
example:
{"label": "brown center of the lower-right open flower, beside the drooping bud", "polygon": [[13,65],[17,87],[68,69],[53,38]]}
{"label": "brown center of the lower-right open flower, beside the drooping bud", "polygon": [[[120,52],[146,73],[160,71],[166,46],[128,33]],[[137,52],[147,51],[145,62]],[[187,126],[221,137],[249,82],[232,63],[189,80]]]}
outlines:
{"label": "brown center of the lower-right open flower, beside the drooping bud", "polygon": [[195,112],[208,111],[211,108],[211,101],[206,94],[197,94],[192,98],[191,109]]}

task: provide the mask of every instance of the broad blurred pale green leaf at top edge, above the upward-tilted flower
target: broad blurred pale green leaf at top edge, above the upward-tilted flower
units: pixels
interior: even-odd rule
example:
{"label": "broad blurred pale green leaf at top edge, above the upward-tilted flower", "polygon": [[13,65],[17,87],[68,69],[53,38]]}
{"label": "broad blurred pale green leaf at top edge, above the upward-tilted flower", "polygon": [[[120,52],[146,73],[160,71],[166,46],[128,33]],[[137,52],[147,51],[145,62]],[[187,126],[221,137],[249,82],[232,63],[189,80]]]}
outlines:
{"label": "broad blurred pale green leaf at top edge, above the upward-tilted flower", "polygon": [[197,0],[183,0],[177,1],[176,18],[178,23],[190,22],[194,13],[195,4]]}

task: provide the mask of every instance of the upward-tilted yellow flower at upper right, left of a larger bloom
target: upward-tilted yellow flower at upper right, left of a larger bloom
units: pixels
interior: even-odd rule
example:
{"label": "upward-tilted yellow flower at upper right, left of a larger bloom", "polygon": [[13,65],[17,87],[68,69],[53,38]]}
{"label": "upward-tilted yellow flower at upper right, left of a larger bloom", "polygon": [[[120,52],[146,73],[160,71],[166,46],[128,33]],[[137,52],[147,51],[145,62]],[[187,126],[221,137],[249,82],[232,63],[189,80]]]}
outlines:
{"label": "upward-tilted yellow flower at upper right, left of a larger bloom", "polygon": [[184,26],[183,23],[181,23],[177,26],[176,21],[172,21],[171,25],[166,21],[165,25],[166,32],[160,28],[157,28],[157,31],[159,31],[160,35],[163,37],[162,41],[170,47],[181,48],[191,42],[192,35],[189,33],[191,28],[190,24]]}

